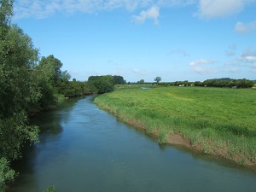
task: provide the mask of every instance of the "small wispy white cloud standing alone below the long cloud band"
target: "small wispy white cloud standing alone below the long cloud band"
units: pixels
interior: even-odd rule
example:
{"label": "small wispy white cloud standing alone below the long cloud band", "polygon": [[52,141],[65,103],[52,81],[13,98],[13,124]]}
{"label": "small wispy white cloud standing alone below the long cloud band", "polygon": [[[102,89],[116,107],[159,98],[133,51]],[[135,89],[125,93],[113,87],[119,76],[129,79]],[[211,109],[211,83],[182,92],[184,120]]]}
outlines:
{"label": "small wispy white cloud standing alone below the long cloud band", "polygon": [[148,10],[141,11],[140,15],[133,15],[132,19],[137,23],[144,23],[145,20],[154,20],[154,24],[158,25],[159,16],[160,16],[159,8],[154,6]]}

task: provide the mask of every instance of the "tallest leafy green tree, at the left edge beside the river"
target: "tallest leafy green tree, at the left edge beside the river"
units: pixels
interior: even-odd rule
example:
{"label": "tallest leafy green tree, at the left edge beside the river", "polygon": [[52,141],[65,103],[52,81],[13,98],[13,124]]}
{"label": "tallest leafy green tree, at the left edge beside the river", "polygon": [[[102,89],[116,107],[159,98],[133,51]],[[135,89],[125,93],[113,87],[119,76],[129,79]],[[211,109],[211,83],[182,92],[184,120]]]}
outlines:
{"label": "tallest leafy green tree, at the left edge beside the river", "polygon": [[38,49],[18,26],[11,25],[13,1],[0,1],[0,191],[14,177],[9,160],[19,159],[20,148],[38,141],[38,127],[28,125],[27,111],[38,102],[34,81]]}

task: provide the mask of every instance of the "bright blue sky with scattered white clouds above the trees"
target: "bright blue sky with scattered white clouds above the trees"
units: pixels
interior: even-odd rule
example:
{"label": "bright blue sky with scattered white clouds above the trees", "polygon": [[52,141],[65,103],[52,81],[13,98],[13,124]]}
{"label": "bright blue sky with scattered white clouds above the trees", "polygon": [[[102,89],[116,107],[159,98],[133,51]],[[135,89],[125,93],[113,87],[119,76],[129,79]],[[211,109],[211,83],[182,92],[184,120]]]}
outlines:
{"label": "bright blue sky with scattered white clouds above the trees", "polygon": [[15,0],[13,22],[72,79],[256,79],[256,0]]}

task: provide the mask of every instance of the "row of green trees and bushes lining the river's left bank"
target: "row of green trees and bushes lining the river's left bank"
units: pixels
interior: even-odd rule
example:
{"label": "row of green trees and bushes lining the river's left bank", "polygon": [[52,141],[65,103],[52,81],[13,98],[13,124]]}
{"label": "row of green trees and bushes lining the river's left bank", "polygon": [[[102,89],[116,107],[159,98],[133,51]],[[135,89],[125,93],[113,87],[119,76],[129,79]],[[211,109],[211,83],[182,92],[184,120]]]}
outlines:
{"label": "row of green trees and bushes lining the river's left bank", "polygon": [[87,82],[62,71],[54,55],[39,58],[32,39],[11,23],[13,0],[0,1],[0,191],[15,178],[9,167],[25,143],[38,142],[39,128],[29,116],[56,108],[58,98],[100,94],[125,84],[121,76],[91,76]]}

